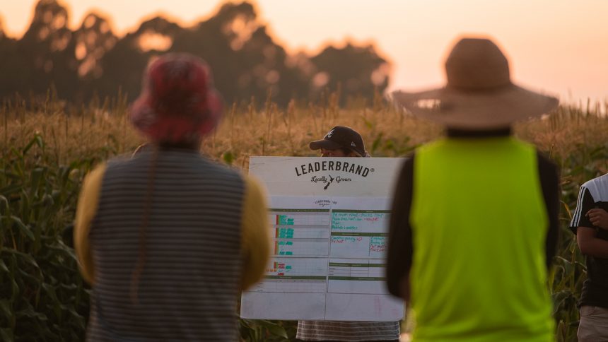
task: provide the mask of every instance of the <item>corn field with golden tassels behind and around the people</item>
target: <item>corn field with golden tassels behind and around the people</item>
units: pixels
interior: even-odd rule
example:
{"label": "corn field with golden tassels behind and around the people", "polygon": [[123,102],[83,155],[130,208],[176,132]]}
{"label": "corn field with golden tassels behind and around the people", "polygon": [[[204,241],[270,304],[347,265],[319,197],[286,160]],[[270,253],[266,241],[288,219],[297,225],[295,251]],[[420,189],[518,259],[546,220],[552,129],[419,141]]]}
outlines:
{"label": "corn field with golden tassels behind and around the people", "polygon": [[[567,227],[579,185],[608,172],[608,119],[600,114],[607,107],[563,106],[515,127],[517,136],[536,144],[561,170],[562,234],[548,284],[557,341],[576,339],[585,259]],[[132,153],[144,142],[129,126],[127,110],[120,93],[81,107],[52,91],[43,99],[1,104],[1,341],[83,340],[90,288],[72,248],[76,199],[83,176],[96,163]],[[252,155],[315,155],[308,143],[338,124],[361,132],[375,157],[403,156],[442,134],[439,126],[410,117],[379,95],[339,107],[330,93],[286,108],[255,99],[229,106],[201,151],[246,172]],[[295,331],[295,322],[240,321],[243,341],[286,341]]]}

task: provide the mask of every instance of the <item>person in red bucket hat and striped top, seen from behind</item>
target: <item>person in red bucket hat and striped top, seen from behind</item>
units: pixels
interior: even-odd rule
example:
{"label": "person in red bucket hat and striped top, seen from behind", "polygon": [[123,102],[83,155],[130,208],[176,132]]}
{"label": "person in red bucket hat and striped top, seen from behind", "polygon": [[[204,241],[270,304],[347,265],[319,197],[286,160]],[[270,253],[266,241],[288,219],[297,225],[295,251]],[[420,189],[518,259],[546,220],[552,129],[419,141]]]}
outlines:
{"label": "person in red bucket hat and striped top, seen from behind", "polygon": [[148,66],[129,113],[148,145],[95,167],[78,200],[88,341],[238,340],[240,290],[262,277],[270,237],[262,186],[199,153],[220,117],[204,61]]}

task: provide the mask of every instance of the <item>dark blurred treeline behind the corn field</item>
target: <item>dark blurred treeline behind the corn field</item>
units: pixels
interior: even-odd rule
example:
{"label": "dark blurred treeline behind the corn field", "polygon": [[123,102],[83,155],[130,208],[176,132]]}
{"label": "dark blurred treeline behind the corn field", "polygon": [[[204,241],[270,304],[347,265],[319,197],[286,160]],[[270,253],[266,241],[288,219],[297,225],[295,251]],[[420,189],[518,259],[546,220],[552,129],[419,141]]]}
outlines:
{"label": "dark blurred treeline behind the corn field", "polygon": [[390,66],[373,45],[327,47],[310,57],[288,54],[269,35],[248,2],[227,3],[214,16],[190,28],[162,17],[146,20],[122,38],[107,18],[89,13],[78,30],[68,27],[68,11],[57,0],[40,0],[21,40],[4,35],[0,23],[0,98],[13,93],[45,94],[49,86],[71,102],[119,88],[132,100],[148,62],[166,52],[189,52],[205,59],[216,87],[228,102],[314,99],[341,85],[343,98],[371,97],[388,84]]}

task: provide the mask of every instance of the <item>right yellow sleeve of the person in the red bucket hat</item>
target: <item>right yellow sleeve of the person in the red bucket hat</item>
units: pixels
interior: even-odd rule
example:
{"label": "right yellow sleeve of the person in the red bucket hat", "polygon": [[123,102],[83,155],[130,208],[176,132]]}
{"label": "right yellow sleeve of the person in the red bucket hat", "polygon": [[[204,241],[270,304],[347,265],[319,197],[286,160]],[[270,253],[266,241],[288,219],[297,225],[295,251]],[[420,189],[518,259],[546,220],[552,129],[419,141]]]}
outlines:
{"label": "right yellow sleeve of the person in the red bucket hat", "polygon": [[270,234],[265,189],[245,176],[245,200],[241,219],[242,278],[246,290],[264,276],[270,254]]}

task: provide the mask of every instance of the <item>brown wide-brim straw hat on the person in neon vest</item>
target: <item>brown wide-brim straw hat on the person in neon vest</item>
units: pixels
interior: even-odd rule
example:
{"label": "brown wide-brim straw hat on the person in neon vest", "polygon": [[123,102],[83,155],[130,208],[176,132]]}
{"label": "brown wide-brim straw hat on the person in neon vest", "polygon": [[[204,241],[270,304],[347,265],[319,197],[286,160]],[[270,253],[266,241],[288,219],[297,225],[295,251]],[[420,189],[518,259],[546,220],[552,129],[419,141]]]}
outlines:
{"label": "brown wide-brim straw hat on the person in neon vest", "polygon": [[394,100],[417,117],[455,129],[500,129],[554,110],[559,100],[510,81],[509,64],[491,40],[463,38],[445,61],[448,84]]}

